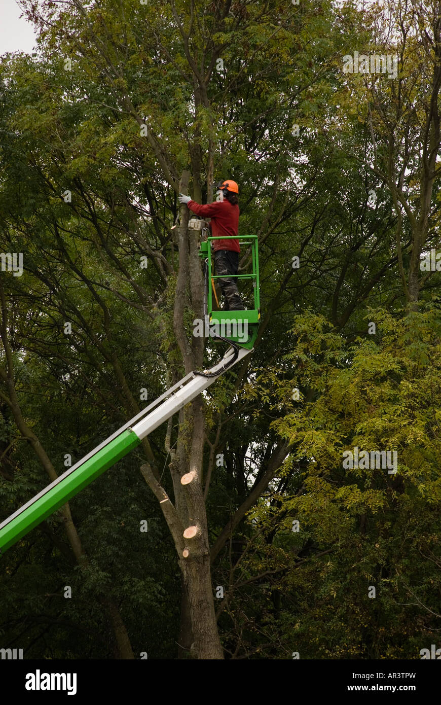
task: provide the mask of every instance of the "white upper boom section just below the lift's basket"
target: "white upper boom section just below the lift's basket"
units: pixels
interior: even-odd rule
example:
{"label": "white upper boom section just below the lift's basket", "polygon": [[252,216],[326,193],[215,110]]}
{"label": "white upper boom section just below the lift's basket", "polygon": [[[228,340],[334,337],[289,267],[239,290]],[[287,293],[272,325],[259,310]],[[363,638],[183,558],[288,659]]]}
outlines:
{"label": "white upper boom section just below the lift's basket", "polygon": [[[237,355],[237,360],[235,360],[232,364],[240,362],[240,360],[243,360],[245,355],[248,355],[251,352],[252,350],[247,350],[247,348],[240,348],[239,354]],[[229,348],[221,362],[218,362],[218,364],[209,369],[209,372],[211,374],[215,374],[216,376],[204,377],[200,374],[194,374],[194,372],[187,375],[187,377],[182,379],[182,386],[180,386],[178,391],[173,392],[168,399],[163,401],[159,407],[156,407],[156,409],[151,411],[147,417],[139,421],[135,424],[135,426],[132,426],[131,430],[138,436],[139,439],[143,439],[145,436],[151,434],[151,431],[154,431],[154,429],[161,426],[161,424],[169,419],[170,416],[173,416],[173,414],[196,398],[198,394],[203,392],[204,389],[213,384],[213,382],[216,382],[218,376],[224,372],[225,367],[230,369],[230,367],[232,367],[231,357],[233,357],[234,353],[235,351],[233,348]],[[218,374],[216,374],[216,372]]]}

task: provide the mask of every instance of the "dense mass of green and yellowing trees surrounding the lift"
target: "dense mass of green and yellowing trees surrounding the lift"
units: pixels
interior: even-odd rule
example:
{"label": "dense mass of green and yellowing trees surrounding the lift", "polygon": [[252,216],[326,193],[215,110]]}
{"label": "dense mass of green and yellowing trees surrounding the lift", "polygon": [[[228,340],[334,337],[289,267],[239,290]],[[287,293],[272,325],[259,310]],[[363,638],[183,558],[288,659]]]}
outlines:
{"label": "dense mass of green and yellowing trees surrounding the lift", "polygon": [[[0,646],[421,658],[441,613],[439,4],[22,6],[38,49],[0,56],[0,250],[23,257],[0,271],[0,521],[219,359],[192,336],[183,173],[199,203],[239,184],[261,326],[1,557]],[[384,61],[357,73],[364,55]]]}

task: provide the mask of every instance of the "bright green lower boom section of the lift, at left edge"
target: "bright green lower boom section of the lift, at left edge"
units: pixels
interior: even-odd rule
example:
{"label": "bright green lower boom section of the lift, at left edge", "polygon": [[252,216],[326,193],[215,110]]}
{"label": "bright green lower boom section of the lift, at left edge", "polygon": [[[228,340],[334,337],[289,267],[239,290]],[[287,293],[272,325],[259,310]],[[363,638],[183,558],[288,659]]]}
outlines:
{"label": "bright green lower boom section of the lift, at left edge", "polygon": [[130,450],[136,448],[139,443],[141,441],[133,431],[123,431],[107,446],[92,455],[92,458],[83,462],[70,474],[66,474],[66,478],[61,475],[59,481],[52,483],[53,486],[48,485],[43,496],[37,498],[35,503],[23,510],[1,529],[0,553],[7,551],[46,517],[66,504],[77,492],[80,492],[109,467],[115,465],[124,455],[130,453]]}

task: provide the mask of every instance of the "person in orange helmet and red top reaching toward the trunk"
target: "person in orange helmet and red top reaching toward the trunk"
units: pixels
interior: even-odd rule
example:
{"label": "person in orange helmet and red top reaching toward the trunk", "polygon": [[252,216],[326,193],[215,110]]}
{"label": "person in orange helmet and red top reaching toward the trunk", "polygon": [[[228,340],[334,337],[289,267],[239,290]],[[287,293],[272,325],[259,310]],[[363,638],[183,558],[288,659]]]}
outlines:
{"label": "person in orange helmet and red top reaching toward the trunk", "polygon": [[190,211],[198,216],[211,218],[211,233],[214,238],[222,236],[222,240],[213,240],[214,266],[224,296],[224,311],[244,311],[235,278],[228,274],[237,274],[239,269],[240,245],[237,240],[239,228],[239,187],[235,181],[227,179],[217,185],[218,200],[201,205],[183,193],[179,195],[180,203],[186,203]]}

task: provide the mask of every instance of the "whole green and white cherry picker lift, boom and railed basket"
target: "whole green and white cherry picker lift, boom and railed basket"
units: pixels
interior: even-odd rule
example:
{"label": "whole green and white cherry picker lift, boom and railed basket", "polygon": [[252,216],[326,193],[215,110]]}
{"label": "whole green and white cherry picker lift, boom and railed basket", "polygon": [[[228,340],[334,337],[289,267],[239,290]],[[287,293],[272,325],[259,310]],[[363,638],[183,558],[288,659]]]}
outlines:
{"label": "whole green and white cherry picker lift, boom and railed basket", "polygon": [[[209,238],[213,240],[214,238]],[[242,242],[242,238],[239,238]],[[141,443],[142,439],[151,434],[163,422],[167,421],[173,414],[178,412],[183,406],[196,398],[204,389],[213,384],[216,379],[224,372],[227,372],[233,364],[242,360],[246,355],[252,352],[253,344],[256,339],[257,329],[259,326],[259,260],[257,255],[257,238],[252,235],[248,238],[243,238],[246,244],[251,244],[252,248],[252,263],[253,274],[241,274],[239,278],[253,278],[256,282],[254,286],[254,307],[251,311],[234,311],[234,312],[213,312],[211,305],[211,291],[209,292],[208,306],[206,299],[206,316],[215,320],[219,314],[219,319],[243,319],[247,321],[249,335],[247,341],[242,345],[237,342],[236,338],[221,337],[230,347],[226,351],[223,359],[214,365],[211,369],[204,372],[190,372],[177,384],[164,392],[153,403],[139,412],[135,417],[130,419],[118,431],[115,431],[105,441],[99,444],[97,448],[87,453],[82,460],[79,460],[75,465],[70,467],[66,472],[60,475],[54,482],[47,485],[35,497],[25,503],[20,509],[16,510],[10,517],[0,524],[0,553],[4,553],[13,544],[16,544],[22,537],[30,532],[34,527],[39,525],[44,519],[53,514],[63,504],[66,504],[70,498],[74,497],[84,487],[86,487],[95,478],[99,477],[109,467],[115,465],[118,460],[130,453],[130,450],[136,448]],[[204,250],[204,247],[206,249]],[[206,257],[209,243],[201,243],[201,254]],[[207,263],[208,259],[208,263]],[[206,278],[205,281],[210,281],[208,277],[211,274],[211,258],[208,257],[206,262]],[[207,289],[207,287],[205,287]],[[233,315],[234,314],[234,315]]]}

